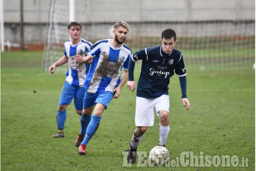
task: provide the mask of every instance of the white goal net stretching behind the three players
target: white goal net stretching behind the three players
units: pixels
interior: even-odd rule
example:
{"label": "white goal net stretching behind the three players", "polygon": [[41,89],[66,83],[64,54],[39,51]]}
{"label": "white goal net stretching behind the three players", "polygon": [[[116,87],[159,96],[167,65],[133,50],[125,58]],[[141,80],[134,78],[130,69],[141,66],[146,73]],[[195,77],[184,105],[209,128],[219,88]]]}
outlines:
{"label": "white goal net stretching behind the three players", "polygon": [[[212,2],[207,4],[207,8],[202,5],[205,2],[202,0],[162,1],[167,2],[166,6],[145,0],[109,0],[108,3],[104,0],[76,0],[75,21],[82,25],[81,37],[92,43],[112,38],[114,23],[118,20],[127,21],[130,31],[125,44],[132,52],[161,45],[162,31],[171,28],[177,34],[175,48],[182,52],[187,69],[252,68],[255,63],[254,0],[243,3],[239,0],[219,0],[219,4]],[[42,64],[42,70],[46,72],[50,65],[63,56],[64,43],[69,40],[69,1],[51,0],[49,9]],[[59,66],[56,72],[66,72],[67,69],[67,65]]]}

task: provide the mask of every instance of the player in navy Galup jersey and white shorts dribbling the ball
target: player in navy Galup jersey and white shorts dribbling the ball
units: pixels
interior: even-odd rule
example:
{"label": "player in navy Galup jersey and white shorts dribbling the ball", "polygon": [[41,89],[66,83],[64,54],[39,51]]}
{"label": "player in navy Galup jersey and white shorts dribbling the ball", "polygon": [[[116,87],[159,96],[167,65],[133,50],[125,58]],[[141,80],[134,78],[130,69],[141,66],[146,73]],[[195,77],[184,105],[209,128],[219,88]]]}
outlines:
{"label": "player in navy Galup jersey and white shorts dribbling the ball", "polygon": [[178,40],[176,33],[172,29],[162,31],[162,45],[148,47],[132,54],[129,61],[128,88],[133,92],[136,88],[133,78],[135,62],[142,60],[142,69],[139,76],[136,109],[135,109],[135,128],[129,143],[127,160],[129,163],[136,162],[136,152],[139,142],[149,126],[154,125],[154,110],[160,118],[159,123],[159,143],[165,146],[169,134],[169,96],[168,85],[174,70],[179,76],[181,86],[182,103],[186,110],[189,110],[190,103],[187,99],[187,80],[186,69],[181,52],[174,49]]}

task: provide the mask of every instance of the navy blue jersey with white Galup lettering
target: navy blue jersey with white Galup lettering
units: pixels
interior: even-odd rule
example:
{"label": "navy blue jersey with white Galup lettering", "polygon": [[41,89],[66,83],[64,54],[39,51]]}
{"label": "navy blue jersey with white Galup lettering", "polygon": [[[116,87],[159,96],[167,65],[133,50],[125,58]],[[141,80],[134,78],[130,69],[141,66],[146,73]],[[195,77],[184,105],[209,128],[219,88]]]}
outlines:
{"label": "navy blue jersey with white Galup lettering", "polygon": [[162,46],[149,47],[134,53],[131,59],[133,62],[142,60],[137,84],[138,97],[157,98],[168,95],[168,85],[174,71],[179,77],[186,75],[183,56],[177,49],[173,49],[171,54],[165,54]]}

